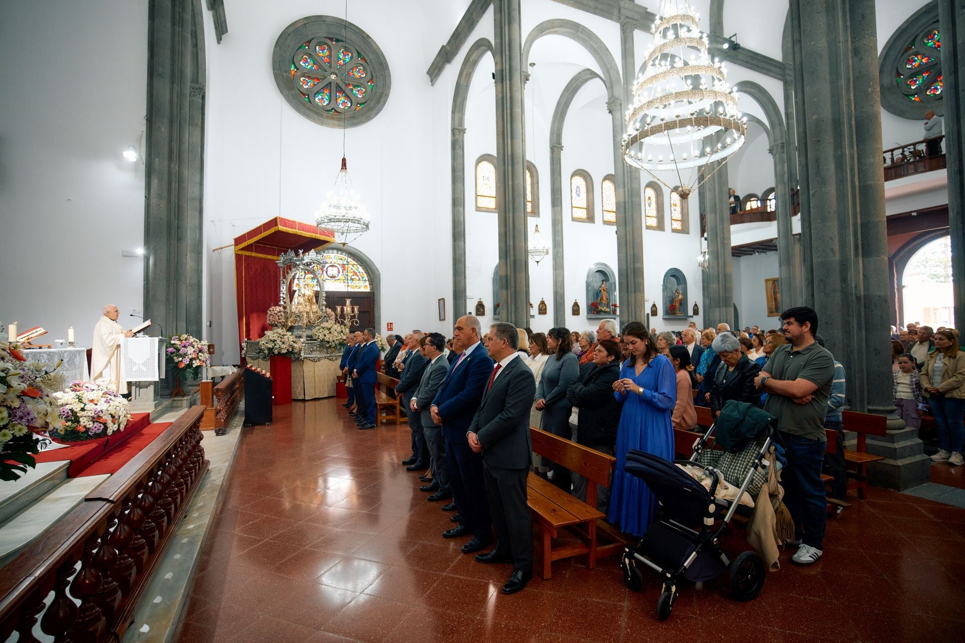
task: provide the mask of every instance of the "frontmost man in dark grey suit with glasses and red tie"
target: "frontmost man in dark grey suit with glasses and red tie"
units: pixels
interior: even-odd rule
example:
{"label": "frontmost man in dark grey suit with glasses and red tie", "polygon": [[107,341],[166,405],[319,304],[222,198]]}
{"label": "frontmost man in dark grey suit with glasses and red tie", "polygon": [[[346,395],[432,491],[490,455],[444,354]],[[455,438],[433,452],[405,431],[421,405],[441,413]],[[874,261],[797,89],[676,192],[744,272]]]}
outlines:
{"label": "frontmost man in dark grey suit with glasses and red tie", "polygon": [[496,549],[476,555],[481,563],[512,563],[504,594],[526,587],[533,577],[533,527],[526,503],[529,474],[530,407],[537,392],[533,371],[517,352],[519,335],[506,322],[493,324],[486,351],[496,362],[483,401],[466,438],[483,454],[489,513],[496,530]]}

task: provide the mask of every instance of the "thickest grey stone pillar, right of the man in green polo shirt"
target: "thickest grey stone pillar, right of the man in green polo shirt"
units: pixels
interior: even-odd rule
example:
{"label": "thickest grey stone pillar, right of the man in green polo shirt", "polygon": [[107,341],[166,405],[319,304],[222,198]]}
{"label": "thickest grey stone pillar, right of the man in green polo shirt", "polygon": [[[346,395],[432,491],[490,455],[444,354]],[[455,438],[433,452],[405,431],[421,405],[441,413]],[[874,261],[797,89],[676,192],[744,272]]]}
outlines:
{"label": "thickest grey stone pillar, right of the man in green polo shirt", "polygon": [[[869,475],[904,489],[927,481],[928,461],[921,441],[894,415],[892,400],[874,3],[791,0],[790,9],[800,45],[798,141],[807,145],[798,167],[809,202],[802,236],[818,331],[844,366],[851,408],[890,415],[888,437],[869,440],[869,451],[886,457]],[[841,82],[817,92],[819,79],[829,77]]]}

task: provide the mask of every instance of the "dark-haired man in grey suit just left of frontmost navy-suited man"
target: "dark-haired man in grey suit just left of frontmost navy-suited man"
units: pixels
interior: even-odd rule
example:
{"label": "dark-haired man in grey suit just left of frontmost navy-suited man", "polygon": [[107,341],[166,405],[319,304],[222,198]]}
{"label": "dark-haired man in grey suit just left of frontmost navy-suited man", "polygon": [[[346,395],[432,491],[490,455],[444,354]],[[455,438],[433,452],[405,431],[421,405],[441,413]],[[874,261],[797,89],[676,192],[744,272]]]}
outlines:
{"label": "dark-haired man in grey suit just left of frontmost navy-suited man", "polygon": [[[422,381],[416,389],[415,397],[409,404],[413,413],[422,415],[423,435],[426,436],[432,481],[437,488],[429,499],[442,500],[453,497],[449,488],[449,469],[446,467],[446,444],[442,441],[442,427],[432,421],[429,407],[435,394],[439,392],[439,385],[449,374],[450,363],[443,352],[446,350],[446,338],[438,333],[426,335],[423,353],[428,365],[423,371]],[[455,521],[457,522],[457,521]]]}

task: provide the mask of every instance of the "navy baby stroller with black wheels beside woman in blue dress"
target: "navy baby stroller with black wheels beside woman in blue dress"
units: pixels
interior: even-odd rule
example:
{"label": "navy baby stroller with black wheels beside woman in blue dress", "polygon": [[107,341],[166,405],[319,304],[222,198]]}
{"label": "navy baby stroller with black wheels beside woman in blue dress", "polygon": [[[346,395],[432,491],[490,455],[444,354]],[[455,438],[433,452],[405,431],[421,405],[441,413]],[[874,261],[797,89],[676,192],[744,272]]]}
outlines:
{"label": "navy baby stroller with black wheels beside woman in blue dress", "polygon": [[[756,551],[744,551],[731,560],[720,546],[721,534],[733,515],[738,513],[749,518],[753,509],[737,499],[716,497],[723,473],[715,467],[701,465],[701,453],[715,426],[694,444],[694,454],[689,460],[672,463],[636,449],[631,449],[626,456],[624,470],[644,480],[661,506],[657,509],[657,520],[650,525],[643,540],[635,547],[623,549],[620,569],[623,581],[634,591],[640,590],[643,582],[640,563],[663,578],[663,589],[657,600],[657,618],[661,621],[666,620],[674,608],[681,578],[703,582],[729,570],[731,594],[736,601],[756,598],[764,584],[766,566]],[[771,417],[758,439],[745,446],[751,451],[746,453],[751,464],[742,477],[736,498],[752,486],[758,471],[766,475],[769,463],[765,457],[774,441],[776,426],[777,418]],[[677,463],[701,465],[703,473],[710,478],[710,489],[677,467]],[[757,486],[759,489],[759,483]]]}

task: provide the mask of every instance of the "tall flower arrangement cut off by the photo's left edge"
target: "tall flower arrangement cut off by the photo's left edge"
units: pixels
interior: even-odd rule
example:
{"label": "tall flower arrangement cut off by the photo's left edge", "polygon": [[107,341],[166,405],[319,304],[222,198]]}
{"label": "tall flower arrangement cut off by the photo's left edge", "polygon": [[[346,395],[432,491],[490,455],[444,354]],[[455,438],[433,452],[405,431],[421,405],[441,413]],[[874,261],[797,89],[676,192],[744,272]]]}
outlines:
{"label": "tall flower arrangement cut off by the photo's left edge", "polygon": [[64,388],[64,376],[51,366],[27,362],[17,346],[0,333],[0,480],[16,480],[34,469],[34,455],[49,444],[34,433],[59,421],[52,391]]}

